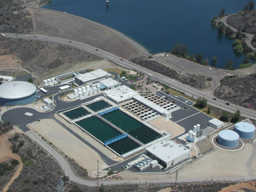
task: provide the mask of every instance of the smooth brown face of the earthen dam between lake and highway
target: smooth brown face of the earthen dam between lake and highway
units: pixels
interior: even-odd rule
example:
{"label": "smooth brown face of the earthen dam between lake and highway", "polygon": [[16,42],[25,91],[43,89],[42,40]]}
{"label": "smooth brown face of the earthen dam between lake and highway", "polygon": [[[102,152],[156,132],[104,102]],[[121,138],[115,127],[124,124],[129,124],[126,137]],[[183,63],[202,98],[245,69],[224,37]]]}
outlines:
{"label": "smooth brown face of the earthen dam between lake and highway", "polygon": [[35,34],[84,42],[126,59],[142,56],[129,42],[87,19],[46,9],[31,12]]}

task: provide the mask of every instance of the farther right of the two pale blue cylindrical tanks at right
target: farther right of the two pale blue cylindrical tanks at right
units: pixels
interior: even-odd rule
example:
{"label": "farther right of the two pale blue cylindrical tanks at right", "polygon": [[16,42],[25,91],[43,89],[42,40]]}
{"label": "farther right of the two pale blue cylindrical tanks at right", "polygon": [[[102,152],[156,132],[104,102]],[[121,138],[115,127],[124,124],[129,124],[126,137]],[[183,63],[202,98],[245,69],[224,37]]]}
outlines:
{"label": "farther right of the two pale blue cylindrical tanks at right", "polygon": [[243,139],[250,139],[254,137],[255,127],[246,122],[239,122],[234,125],[234,131]]}

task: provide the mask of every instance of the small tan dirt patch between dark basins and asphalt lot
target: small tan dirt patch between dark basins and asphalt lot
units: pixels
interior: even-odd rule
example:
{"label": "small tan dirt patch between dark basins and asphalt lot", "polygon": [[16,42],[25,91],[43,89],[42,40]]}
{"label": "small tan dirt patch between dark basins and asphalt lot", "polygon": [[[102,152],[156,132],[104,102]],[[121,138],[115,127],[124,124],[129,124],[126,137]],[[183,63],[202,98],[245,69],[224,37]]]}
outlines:
{"label": "small tan dirt patch between dark basins and asphalt lot", "polygon": [[159,117],[150,121],[149,123],[157,127],[161,131],[167,131],[168,133],[172,134],[172,137],[170,138],[174,138],[177,135],[185,132],[185,129],[182,126],[171,120],[166,120],[164,117]]}

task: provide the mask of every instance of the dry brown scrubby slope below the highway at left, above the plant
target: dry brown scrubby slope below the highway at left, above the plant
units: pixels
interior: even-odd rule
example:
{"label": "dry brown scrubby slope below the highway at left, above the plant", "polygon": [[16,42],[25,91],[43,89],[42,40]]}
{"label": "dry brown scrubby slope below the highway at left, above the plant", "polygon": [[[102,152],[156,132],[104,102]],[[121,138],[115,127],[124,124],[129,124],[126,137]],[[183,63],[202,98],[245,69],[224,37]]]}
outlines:
{"label": "dry brown scrubby slope below the highway at left, above the plant", "polygon": [[[12,55],[18,65],[29,70],[35,77],[62,65],[99,60],[100,58],[69,46],[53,44],[47,41],[25,40],[0,37],[0,58]],[[1,67],[7,64],[3,63]]]}

